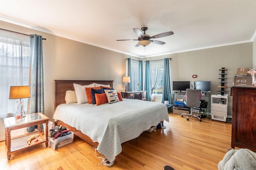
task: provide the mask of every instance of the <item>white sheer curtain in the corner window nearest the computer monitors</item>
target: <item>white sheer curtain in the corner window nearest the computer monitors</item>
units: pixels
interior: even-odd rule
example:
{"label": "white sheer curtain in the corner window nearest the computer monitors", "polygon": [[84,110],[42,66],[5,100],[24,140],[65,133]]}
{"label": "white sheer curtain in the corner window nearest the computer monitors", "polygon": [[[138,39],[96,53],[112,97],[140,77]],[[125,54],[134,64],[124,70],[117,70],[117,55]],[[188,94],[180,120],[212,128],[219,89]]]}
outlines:
{"label": "white sheer curtain in the corner window nearest the computer monitors", "polygon": [[162,94],[164,60],[150,61],[151,94]]}

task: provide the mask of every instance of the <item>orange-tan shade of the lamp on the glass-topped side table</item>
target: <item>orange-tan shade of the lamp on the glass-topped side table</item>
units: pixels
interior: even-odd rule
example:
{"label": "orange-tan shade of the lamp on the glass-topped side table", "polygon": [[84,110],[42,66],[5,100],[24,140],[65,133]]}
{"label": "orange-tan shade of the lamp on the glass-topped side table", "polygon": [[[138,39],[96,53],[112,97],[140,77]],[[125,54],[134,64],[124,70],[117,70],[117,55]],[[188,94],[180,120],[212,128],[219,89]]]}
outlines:
{"label": "orange-tan shade of the lamp on the glass-topped side table", "polygon": [[10,86],[9,99],[22,99],[30,97],[29,86]]}

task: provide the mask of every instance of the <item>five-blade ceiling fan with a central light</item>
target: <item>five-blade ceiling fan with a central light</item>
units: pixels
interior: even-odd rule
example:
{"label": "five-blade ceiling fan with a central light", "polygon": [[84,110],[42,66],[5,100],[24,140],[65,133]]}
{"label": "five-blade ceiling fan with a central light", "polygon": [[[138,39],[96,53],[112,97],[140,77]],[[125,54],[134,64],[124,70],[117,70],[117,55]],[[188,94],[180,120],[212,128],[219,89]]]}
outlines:
{"label": "five-blade ceiling fan with a central light", "polygon": [[[144,33],[138,28],[133,28],[132,30],[139,36],[138,40],[130,39],[130,40],[134,40],[134,41],[139,41],[134,47],[138,47],[140,45],[146,47],[150,43],[163,45],[163,44],[165,44],[165,42],[152,40],[152,39],[167,37],[167,36],[171,36],[172,34],[174,34],[172,31],[169,31],[169,32],[163,32],[160,34],[156,34],[154,36],[149,36],[148,34],[146,34],[146,30],[148,30],[148,27],[141,28],[141,30],[144,31]],[[116,41],[128,41],[128,40],[116,40]]]}

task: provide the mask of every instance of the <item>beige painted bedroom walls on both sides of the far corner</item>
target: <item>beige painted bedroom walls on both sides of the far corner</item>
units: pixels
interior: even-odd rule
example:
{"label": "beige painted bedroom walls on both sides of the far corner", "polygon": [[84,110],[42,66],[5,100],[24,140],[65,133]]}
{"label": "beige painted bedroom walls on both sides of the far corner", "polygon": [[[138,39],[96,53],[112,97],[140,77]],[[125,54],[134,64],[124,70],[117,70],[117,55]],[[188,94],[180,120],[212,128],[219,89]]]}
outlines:
{"label": "beige painted bedroom walls on both sides of the far corner", "polygon": [[[139,59],[3,21],[0,21],[0,25],[3,29],[24,34],[38,34],[47,39],[43,41],[44,103],[45,115],[50,119],[52,119],[54,112],[55,79],[114,80],[114,88],[121,91],[122,88],[125,88],[125,84],[122,83],[122,76],[126,72],[126,58]],[[212,94],[217,94],[218,74],[220,73],[218,69],[221,67],[228,69],[227,85],[232,86],[236,68],[251,69],[253,67],[253,58],[254,60],[256,58],[255,44],[254,41],[254,43],[202,49],[143,60],[172,58],[170,61],[172,80],[184,80],[191,83],[194,81],[212,81]],[[253,51],[254,57],[252,57]],[[144,66],[143,68],[145,68]],[[193,79],[192,75],[198,75],[198,78]],[[232,97],[228,99],[228,115],[231,115]]]}

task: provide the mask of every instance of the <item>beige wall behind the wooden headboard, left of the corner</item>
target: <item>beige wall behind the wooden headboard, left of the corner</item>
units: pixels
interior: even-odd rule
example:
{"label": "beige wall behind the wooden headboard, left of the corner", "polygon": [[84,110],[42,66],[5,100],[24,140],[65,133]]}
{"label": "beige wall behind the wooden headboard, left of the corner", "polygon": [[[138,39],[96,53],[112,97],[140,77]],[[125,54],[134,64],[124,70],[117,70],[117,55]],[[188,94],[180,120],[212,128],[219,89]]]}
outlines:
{"label": "beige wall behind the wooden headboard, left of the corner", "polygon": [[[117,91],[125,88],[126,58],[138,59],[85,43],[0,21],[6,30],[24,34],[38,34],[43,38],[44,110],[51,121],[54,112],[54,80],[114,80]],[[8,99],[6,99],[8,100]]]}

